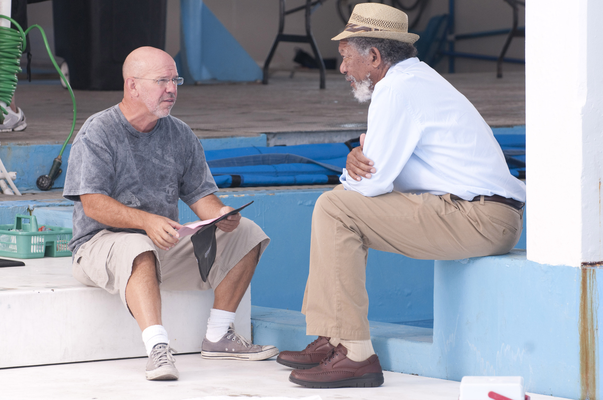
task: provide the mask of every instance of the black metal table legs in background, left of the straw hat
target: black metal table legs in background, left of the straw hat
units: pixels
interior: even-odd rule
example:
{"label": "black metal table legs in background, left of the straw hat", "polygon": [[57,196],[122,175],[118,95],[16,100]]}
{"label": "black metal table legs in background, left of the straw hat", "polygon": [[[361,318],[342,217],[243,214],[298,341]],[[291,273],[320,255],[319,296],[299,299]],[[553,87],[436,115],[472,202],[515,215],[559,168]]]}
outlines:
{"label": "black metal table legs in background, left of the straw hat", "polygon": [[[264,79],[262,79],[262,83],[268,84],[268,67],[270,67],[270,61],[272,61],[272,57],[274,57],[274,52],[276,51],[279,42],[294,42],[294,43],[309,43],[312,47],[312,51],[314,52],[314,58],[318,63],[318,69],[320,69],[320,89],[324,89],[324,61],[323,56],[320,55],[320,51],[318,51],[318,46],[316,45],[316,40],[314,40],[314,35],[312,35],[312,27],[310,17],[314,11],[323,4],[325,0],[306,0],[305,5],[300,5],[299,7],[291,8],[291,10],[286,10],[285,0],[279,1],[279,33],[276,35],[276,39],[274,39],[274,43],[270,48],[270,52],[268,53],[268,57],[264,63]],[[289,35],[284,34],[283,30],[285,30],[285,17],[292,13],[297,13],[297,11],[305,10],[306,11],[306,34],[305,35]]]}

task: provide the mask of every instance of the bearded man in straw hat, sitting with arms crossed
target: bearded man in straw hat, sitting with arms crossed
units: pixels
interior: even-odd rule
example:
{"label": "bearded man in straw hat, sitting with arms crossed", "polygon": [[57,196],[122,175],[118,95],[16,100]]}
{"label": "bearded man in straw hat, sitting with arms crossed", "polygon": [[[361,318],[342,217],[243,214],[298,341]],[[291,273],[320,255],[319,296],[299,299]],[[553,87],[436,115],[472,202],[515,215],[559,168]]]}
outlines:
{"label": "bearded man in straw hat, sitting with arms crossed", "polygon": [[303,351],[280,352],[306,387],[384,382],[368,327],[368,249],[426,260],[505,254],[522,231],[525,184],[514,178],[473,105],[416,57],[408,17],[358,4],[339,40],[341,73],[368,129],[341,185],[318,198],[303,299]]}

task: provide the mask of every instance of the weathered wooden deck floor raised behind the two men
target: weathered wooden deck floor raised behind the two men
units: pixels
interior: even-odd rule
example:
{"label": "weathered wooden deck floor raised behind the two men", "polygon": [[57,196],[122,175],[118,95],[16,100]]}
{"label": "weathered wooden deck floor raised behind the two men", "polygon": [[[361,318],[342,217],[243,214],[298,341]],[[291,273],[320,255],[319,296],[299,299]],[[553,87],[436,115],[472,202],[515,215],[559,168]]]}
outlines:
{"label": "weathered wooden deck floor raised behind the two men", "polygon": [[[473,102],[491,126],[525,124],[525,75],[508,72],[458,73],[445,76]],[[34,81],[35,82],[35,81]],[[93,113],[121,101],[121,92],[77,90],[77,130]],[[22,132],[0,133],[0,143],[58,143],[69,133],[71,99],[57,84],[19,83],[17,105],[27,116]],[[367,104],[358,104],[339,73],[327,74],[327,89],[318,75],[276,72],[270,84],[180,86],[172,115],[188,123],[199,137],[254,136],[264,132],[362,129]],[[75,136],[75,135],[74,135]]]}

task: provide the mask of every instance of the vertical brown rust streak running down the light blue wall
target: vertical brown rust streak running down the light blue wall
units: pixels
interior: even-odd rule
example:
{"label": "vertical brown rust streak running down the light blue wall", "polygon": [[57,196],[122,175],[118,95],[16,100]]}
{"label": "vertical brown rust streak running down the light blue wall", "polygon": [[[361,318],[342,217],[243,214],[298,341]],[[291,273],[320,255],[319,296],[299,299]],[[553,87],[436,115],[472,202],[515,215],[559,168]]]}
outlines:
{"label": "vertical brown rust streak running down the light blue wall", "polygon": [[[595,266],[596,265],[596,266]],[[579,305],[580,399],[596,400],[597,353],[596,330],[598,291],[596,269],[600,263],[582,263]]]}

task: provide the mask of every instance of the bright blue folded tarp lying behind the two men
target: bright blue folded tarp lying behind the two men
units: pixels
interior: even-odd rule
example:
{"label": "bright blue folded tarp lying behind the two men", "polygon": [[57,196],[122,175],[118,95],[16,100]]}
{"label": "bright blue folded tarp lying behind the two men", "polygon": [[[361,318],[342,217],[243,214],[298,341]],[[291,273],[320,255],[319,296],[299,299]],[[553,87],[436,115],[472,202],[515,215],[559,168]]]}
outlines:
{"label": "bright blue folded tarp lying behind the two men", "polygon": [[[511,173],[525,178],[525,135],[494,137]],[[318,143],[212,150],[205,157],[218,187],[289,186],[338,183],[349,152],[346,143]]]}

